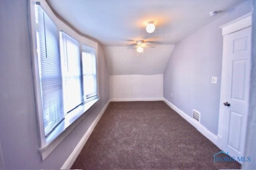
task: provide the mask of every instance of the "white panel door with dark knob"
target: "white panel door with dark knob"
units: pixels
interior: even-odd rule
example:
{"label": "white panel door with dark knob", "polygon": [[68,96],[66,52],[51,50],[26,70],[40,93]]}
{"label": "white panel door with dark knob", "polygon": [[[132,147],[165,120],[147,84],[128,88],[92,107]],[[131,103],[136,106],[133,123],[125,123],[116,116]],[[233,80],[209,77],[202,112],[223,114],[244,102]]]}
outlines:
{"label": "white panel door with dark knob", "polygon": [[251,27],[224,36],[220,97],[220,147],[243,156],[250,88]]}

